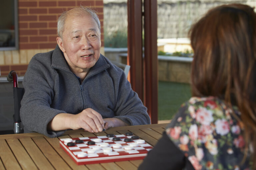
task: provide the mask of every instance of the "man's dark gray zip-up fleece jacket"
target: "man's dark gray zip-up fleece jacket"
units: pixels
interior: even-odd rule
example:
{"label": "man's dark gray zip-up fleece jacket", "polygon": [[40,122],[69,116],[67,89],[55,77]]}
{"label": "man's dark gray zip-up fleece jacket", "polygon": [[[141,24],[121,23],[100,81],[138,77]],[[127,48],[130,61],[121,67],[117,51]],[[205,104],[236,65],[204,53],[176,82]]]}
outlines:
{"label": "man's dark gray zip-up fleece jacket", "polygon": [[57,137],[47,124],[59,113],[78,114],[92,108],[104,118],[118,118],[129,125],[150,124],[142,104],[122,69],[100,55],[84,81],[70,71],[58,45],[53,51],[36,54],[24,76],[25,94],[20,116],[24,132]]}

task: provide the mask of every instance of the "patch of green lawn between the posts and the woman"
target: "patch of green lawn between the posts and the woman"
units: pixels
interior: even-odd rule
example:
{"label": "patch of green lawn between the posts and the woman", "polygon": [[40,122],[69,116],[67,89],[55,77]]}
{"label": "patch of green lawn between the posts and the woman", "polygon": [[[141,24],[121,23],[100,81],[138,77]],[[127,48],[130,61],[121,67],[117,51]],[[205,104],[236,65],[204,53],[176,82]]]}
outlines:
{"label": "patch of green lawn between the posts and the woman", "polygon": [[158,120],[170,120],[180,105],[191,97],[186,83],[158,82]]}

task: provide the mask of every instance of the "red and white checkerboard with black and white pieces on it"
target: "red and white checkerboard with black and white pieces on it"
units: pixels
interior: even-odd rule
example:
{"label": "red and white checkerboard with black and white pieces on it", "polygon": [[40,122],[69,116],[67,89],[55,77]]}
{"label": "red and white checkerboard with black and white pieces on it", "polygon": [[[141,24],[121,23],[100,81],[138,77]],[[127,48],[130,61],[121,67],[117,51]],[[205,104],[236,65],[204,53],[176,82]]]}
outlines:
{"label": "red and white checkerboard with black and white pieces on it", "polygon": [[132,132],[120,135],[60,139],[60,146],[77,165],[143,159],[152,146]]}

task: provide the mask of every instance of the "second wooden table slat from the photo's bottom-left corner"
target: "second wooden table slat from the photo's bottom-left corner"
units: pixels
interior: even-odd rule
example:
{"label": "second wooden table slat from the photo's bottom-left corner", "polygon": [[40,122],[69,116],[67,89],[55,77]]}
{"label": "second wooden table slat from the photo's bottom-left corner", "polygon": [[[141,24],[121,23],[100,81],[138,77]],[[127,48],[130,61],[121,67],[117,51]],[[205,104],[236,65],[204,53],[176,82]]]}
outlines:
{"label": "second wooden table slat from the photo's bottom-left corner", "polygon": [[21,169],[8,144],[3,139],[0,140],[0,157],[7,170]]}

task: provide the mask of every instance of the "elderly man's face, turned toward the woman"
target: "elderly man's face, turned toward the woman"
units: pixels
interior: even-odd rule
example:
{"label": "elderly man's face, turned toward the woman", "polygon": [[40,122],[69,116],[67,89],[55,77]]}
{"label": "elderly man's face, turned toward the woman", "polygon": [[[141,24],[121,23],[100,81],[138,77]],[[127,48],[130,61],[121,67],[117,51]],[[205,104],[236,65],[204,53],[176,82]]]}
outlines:
{"label": "elderly man's face, turned toward the woman", "polygon": [[68,15],[57,42],[74,73],[88,72],[100,57],[100,30],[90,14]]}

